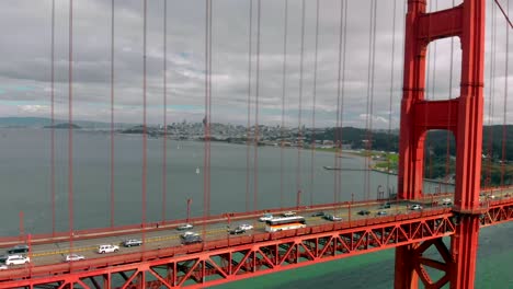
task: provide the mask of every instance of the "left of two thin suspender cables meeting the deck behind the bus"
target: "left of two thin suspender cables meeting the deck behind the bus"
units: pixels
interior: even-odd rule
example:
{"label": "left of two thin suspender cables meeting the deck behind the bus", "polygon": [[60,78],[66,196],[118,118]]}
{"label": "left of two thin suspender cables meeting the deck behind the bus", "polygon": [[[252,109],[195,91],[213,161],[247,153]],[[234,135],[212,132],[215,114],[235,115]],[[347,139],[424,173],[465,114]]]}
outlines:
{"label": "left of two thin suspender cables meeting the deck behind the bus", "polygon": [[283,178],[284,178],[284,130],[285,130],[285,93],[287,84],[287,25],[288,25],[288,0],[285,0],[285,16],[283,32],[283,68],[282,68],[282,125],[280,127],[280,208],[283,208]]}

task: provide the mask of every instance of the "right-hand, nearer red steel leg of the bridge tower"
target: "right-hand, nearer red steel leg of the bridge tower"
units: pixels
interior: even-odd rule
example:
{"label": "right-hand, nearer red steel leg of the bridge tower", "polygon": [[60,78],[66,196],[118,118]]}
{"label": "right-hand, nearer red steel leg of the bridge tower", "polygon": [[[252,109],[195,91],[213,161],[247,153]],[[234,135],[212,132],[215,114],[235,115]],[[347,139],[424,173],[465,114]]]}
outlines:
{"label": "right-hand, nearer red steel leg of the bridge tower", "polygon": [[479,236],[485,74],[485,0],[466,0],[461,30],[461,95],[458,106],[455,210],[459,226],[452,240],[455,259],[451,288],[474,288]]}

